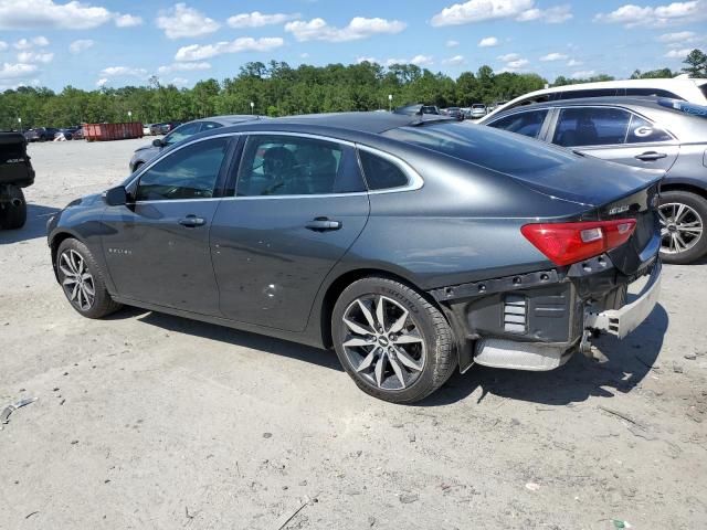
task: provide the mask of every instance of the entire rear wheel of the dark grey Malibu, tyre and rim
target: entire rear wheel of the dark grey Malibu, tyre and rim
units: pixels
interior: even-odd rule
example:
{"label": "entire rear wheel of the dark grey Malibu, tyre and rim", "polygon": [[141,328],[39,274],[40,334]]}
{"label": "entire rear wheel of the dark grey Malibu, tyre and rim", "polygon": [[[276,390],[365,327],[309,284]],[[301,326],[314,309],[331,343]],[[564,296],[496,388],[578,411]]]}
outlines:
{"label": "entire rear wheel of the dark grey Malibu, tyre and rim", "polygon": [[331,316],[344,369],[367,394],[412,403],[452,375],[452,329],[440,310],[399,282],[367,277],[349,285]]}

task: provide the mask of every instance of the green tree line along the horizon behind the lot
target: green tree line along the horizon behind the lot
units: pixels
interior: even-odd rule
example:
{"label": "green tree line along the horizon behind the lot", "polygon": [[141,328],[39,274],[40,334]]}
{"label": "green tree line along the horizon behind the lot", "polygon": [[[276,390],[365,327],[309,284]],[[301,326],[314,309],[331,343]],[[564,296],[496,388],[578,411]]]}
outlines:
{"label": "green tree line along the horizon behind the lot", "polygon": [[[685,60],[684,72],[707,77],[707,56],[699,50]],[[635,71],[634,78],[672,77],[668,68]],[[610,81],[598,75],[558,77],[552,85]],[[508,100],[548,84],[531,73],[494,73],[490,66],[464,72],[456,80],[413,64],[388,67],[360,64],[299,65],[251,62],[238,75],[221,82],[210,78],[192,88],[162,85],[151,77],[145,86],[83,91],[66,86],[56,93],[23,86],[0,94],[0,129],[64,127],[82,123],[188,120],[220,114],[285,116],[293,114],[387,109],[409,103],[466,107],[474,103]],[[392,103],[389,100],[392,95]],[[130,117],[128,117],[130,113]]]}

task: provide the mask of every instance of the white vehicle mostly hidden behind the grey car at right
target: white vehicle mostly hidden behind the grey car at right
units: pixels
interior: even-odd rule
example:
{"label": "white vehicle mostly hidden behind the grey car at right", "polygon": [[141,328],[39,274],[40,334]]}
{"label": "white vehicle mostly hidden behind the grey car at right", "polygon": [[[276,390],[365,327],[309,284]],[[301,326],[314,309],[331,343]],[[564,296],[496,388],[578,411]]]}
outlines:
{"label": "white vehicle mostly hidden behind the grey car at right", "polygon": [[610,96],[656,96],[673,99],[684,99],[697,105],[707,105],[707,80],[674,77],[663,80],[621,80],[600,81],[597,83],[581,83],[577,85],[553,86],[541,91],[530,92],[500,105],[488,114],[482,123],[492,119],[500,112],[510,110],[523,105],[534,103],[579,99],[584,97]]}

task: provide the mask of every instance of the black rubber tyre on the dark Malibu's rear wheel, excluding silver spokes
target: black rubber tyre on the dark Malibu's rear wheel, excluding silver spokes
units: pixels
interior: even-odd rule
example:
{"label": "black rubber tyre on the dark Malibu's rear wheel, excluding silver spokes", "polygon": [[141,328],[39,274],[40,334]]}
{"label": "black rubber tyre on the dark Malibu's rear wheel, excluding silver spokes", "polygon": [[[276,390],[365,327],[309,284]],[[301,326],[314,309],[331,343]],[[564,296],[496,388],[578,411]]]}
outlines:
{"label": "black rubber tyre on the dark Malibu's rear wheel, excluding silver spokes", "polygon": [[[422,339],[420,346],[413,346],[413,348],[420,349],[419,357],[415,358],[414,351],[408,349],[411,344],[404,344],[405,349],[403,349],[403,352],[410,353],[410,357],[405,354],[408,362],[410,362],[411,358],[415,361],[422,360],[421,370],[420,368],[411,370],[408,368],[408,362],[401,362],[402,357],[397,357],[400,354],[399,350],[394,350],[392,353],[392,359],[398,364],[399,370],[400,368],[404,370],[403,375],[411,375],[410,384],[402,383],[401,389],[383,388],[388,381],[400,383],[402,380],[395,374],[390,359],[381,360],[381,357],[386,354],[381,350],[378,350],[376,360],[372,362],[376,368],[378,363],[382,363],[386,367],[382,370],[388,373],[388,377],[383,379],[382,385],[377,383],[377,374],[357,371],[357,368],[360,369],[363,363],[355,367],[354,362],[358,361],[358,358],[351,359],[358,354],[368,359],[372,350],[367,348],[372,348],[373,350],[378,348],[386,349],[388,341],[378,346],[376,341],[380,341],[381,337],[371,339],[372,336],[369,336],[367,340],[373,340],[371,344],[361,346],[360,348],[349,347],[348,349],[344,346],[345,341],[349,342],[351,340],[351,331],[344,324],[344,317],[352,315],[350,311],[356,310],[355,305],[360,307],[357,300],[367,300],[363,304],[367,304],[368,300],[373,303],[373,300],[380,299],[381,296],[388,300],[387,304],[390,305],[388,309],[392,308],[394,311],[398,308],[401,311],[400,315],[402,315],[403,308],[409,311],[410,319],[405,320],[409,326],[405,329],[413,329],[415,336]],[[395,317],[393,316],[390,320],[393,318]],[[383,339],[393,327],[394,325],[392,324],[387,326],[387,329],[381,333]],[[367,394],[392,403],[413,403],[426,398],[450,379],[456,367],[457,357],[454,336],[442,312],[415,289],[393,279],[369,276],[354,282],[344,289],[331,314],[331,335],[339,361],[358,388]],[[422,344],[424,344],[424,350],[421,350],[423,348]],[[400,348],[400,344],[395,344],[395,347]],[[369,362],[369,367],[365,370],[374,372],[374,367]],[[386,378],[384,374],[383,378]]]}

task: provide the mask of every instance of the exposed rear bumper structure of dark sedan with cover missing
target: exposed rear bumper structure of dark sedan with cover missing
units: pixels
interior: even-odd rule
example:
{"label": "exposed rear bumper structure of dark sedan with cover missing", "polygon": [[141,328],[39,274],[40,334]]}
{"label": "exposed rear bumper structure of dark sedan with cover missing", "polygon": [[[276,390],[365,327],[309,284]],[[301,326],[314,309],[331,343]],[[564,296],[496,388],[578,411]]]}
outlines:
{"label": "exposed rear bumper structure of dark sedan with cover missing", "polygon": [[[541,371],[562,365],[578,350],[587,352],[597,332],[620,339],[631,333],[657,304],[661,274],[657,256],[626,276],[602,255],[563,269],[431,294],[458,338],[462,372],[474,363]],[[629,294],[639,283],[645,283],[640,293]]]}

